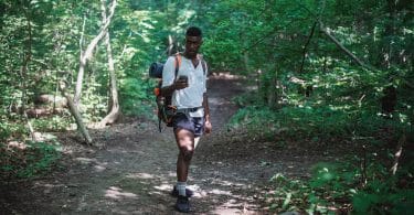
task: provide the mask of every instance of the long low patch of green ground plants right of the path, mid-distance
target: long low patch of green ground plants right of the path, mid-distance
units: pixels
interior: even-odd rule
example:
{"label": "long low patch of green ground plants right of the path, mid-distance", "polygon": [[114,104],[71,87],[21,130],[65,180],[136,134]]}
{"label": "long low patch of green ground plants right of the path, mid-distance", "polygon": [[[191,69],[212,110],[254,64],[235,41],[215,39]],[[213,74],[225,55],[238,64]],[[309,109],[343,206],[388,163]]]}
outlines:
{"label": "long low patch of green ground plants right of the path, mid-distance", "polygon": [[[291,97],[290,100],[295,99]],[[361,110],[350,105],[326,105],[318,103],[298,104],[297,107],[284,107],[279,110],[267,107],[250,106],[232,117],[230,126],[246,128],[257,137],[276,136],[296,140],[316,139],[326,141],[332,139],[352,140],[353,137],[375,137],[385,127],[396,129],[402,133],[407,125],[399,119],[390,120],[376,115],[375,110]]]}

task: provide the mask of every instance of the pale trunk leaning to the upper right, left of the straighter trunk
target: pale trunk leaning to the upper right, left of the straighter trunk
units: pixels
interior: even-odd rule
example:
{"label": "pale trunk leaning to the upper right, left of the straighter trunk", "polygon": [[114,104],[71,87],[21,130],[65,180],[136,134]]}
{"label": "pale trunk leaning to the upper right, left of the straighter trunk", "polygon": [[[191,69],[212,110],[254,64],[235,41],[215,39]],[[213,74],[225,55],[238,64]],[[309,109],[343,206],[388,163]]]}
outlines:
{"label": "pale trunk leaning to the upper right, left of the straighter trunk", "polygon": [[88,60],[92,58],[93,52],[94,52],[95,47],[97,46],[97,44],[99,43],[99,41],[106,35],[107,29],[110,24],[110,19],[114,17],[115,7],[116,7],[116,0],[113,1],[113,4],[109,9],[109,15],[106,19],[106,22],[103,23],[103,28],[100,29],[100,32],[98,33],[98,35],[96,35],[91,41],[91,43],[87,45],[85,52],[82,53],[82,55],[81,55],[79,71],[77,73],[77,79],[76,79],[75,97],[73,99],[74,105],[76,107],[78,107],[79,104],[81,104],[82,84],[83,84],[86,63],[87,63]]}

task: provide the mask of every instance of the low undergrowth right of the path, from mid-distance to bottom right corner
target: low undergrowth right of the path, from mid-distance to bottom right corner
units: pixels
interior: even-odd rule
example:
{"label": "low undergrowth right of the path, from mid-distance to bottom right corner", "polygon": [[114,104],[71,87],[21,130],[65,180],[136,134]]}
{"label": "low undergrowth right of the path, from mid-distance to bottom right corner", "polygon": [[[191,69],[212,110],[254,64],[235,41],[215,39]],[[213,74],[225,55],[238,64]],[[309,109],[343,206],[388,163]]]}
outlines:
{"label": "low undergrowth right of the path, from mid-distance to bottom right corner", "polygon": [[[307,214],[410,214],[414,211],[414,183],[410,151],[413,142],[411,119],[404,112],[379,114],[375,104],[343,105],[307,98],[290,100],[282,108],[250,103],[250,93],[236,98],[242,104],[229,129],[241,129],[248,137],[265,141],[289,140],[353,151],[341,161],[316,163],[310,179],[272,178],[267,195],[270,209]],[[295,99],[293,99],[295,98]],[[256,99],[257,100],[257,99]],[[290,101],[290,103],[289,103]],[[363,107],[361,107],[363,106]],[[397,171],[395,148],[402,146]],[[405,150],[407,148],[408,150]],[[355,151],[357,150],[357,151]]]}

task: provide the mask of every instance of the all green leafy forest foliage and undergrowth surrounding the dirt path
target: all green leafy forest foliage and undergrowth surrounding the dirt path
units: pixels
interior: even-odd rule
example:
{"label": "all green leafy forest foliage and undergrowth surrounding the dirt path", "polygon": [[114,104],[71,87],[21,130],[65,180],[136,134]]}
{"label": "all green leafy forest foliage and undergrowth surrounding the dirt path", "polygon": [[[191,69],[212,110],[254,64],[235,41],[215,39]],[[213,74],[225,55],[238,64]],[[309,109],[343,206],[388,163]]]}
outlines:
{"label": "all green leafy forest foliage and undergrowth surrounding the dirt path", "polygon": [[[210,71],[230,71],[258,83],[256,90],[235,98],[242,108],[231,127],[280,147],[290,140],[353,142],[389,153],[386,143],[397,142],[402,133],[407,142],[414,138],[412,9],[407,0],[118,1],[108,32],[120,108],[125,115],[155,116],[156,83],[148,79],[147,68],[167,58],[170,36],[182,51],[185,28],[199,25]],[[81,51],[99,32],[100,12],[98,1],[0,1],[0,142],[8,143],[0,148],[2,176],[31,178],[57,161],[55,146],[29,143],[23,150],[9,143],[28,139],[21,112],[38,107],[39,95],[57,95],[60,80],[74,93]],[[368,68],[323,34],[317,21]],[[85,71],[81,109],[86,122],[107,114],[107,67],[100,42]],[[397,100],[385,117],[381,100],[389,86],[395,87]],[[64,130],[72,121],[67,111],[30,119],[36,131]],[[383,161],[391,157],[372,154],[364,172],[364,158],[358,154],[315,165],[309,181],[276,175],[273,207],[309,214],[329,214],[331,207],[349,211],[348,204],[355,214],[413,211],[413,164],[404,163],[389,176]]]}

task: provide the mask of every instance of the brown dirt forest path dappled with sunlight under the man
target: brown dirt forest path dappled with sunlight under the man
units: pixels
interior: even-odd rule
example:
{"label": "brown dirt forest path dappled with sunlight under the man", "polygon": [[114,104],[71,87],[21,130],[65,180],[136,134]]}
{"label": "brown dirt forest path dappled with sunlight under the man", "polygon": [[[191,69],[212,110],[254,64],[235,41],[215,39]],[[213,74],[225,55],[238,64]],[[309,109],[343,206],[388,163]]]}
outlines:
{"label": "brown dirt forest path dappled with sunlight under the man", "polygon": [[[336,157],[335,149],[250,142],[227,131],[237,110],[231,98],[244,92],[242,83],[229,75],[209,82],[213,133],[202,138],[192,160],[191,214],[273,214],[266,194],[274,174],[308,178],[312,164]],[[0,214],[179,214],[170,195],[178,150],[171,129],[159,133],[157,126],[128,118],[92,130],[98,147],[79,143],[74,132],[59,133],[60,168],[2,185]]]}

